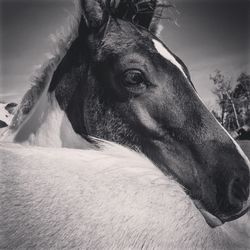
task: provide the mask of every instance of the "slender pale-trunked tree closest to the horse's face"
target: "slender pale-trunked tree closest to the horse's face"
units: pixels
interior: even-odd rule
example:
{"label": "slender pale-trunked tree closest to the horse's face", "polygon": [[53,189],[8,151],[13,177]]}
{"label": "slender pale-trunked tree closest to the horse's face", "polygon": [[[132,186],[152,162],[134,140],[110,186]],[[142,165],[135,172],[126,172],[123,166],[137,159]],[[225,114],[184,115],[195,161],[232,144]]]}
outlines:
{"label": "slender pale-trunked tree closest to the horse's face", "polygon": [[236,125],[236,129],[240,128],[235,98],[233,97],[232,80],[226,78],[220,70],[216,70],[213,76],[210,75],[210,79],[214,83],[213,93],[217,96],[217,101],[221,108],[221,117],[219,119],[221,124],[227,129],[232,129],[233,122]]}

